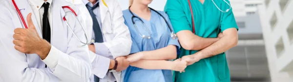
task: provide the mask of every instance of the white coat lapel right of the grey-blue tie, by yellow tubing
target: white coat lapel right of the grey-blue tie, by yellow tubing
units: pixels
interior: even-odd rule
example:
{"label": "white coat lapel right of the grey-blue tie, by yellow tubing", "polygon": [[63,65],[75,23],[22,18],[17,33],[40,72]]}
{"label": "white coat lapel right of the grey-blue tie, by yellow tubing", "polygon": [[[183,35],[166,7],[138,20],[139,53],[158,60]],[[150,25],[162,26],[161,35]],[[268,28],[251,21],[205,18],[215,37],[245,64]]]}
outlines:
{"label": "white coat lapel right of the grey-blue tie, by yellow tubing", "polygon": [[100,5],[101,21],[103,23],[103,21],[105,20],[105,16],[106,16],[107,12],[109,12],[108,11],[109,8],[107,7],[107,4],[106,4],[105,0],[99,0],[99,5]]}

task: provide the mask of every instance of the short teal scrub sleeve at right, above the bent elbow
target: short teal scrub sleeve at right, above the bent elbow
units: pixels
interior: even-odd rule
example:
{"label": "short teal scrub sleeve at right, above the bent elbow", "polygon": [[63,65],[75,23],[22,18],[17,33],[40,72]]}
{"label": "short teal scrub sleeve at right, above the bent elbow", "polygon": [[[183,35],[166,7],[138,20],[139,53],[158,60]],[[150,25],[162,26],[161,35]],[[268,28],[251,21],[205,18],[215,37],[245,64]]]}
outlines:
{"label": "short teal scrub sleeve at right, above the bent elbow", "polygon": [[[226,0],[226,1],[230,4],[229,0]],[[229,9],[229,8],[230,8],[230,6],[223,1],[221,9],[225,11],[226,9]],[[238,26],[236,24],[232,8],[230,9],[229,12],[222,13],[221,17],[222,17],[221,24],[220,24],[221,25],[221,32],[223,32],[224,30],[229,29],[229,28],[236,28],[238,31]]]}

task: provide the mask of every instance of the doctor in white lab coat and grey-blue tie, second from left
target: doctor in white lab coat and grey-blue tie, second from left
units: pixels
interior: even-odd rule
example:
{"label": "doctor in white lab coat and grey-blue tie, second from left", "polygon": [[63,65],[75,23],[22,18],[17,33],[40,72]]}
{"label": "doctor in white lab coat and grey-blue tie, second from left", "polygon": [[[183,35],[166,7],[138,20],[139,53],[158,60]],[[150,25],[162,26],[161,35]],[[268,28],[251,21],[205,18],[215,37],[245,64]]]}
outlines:
{"label": "doctor in white lab coat and grey-blue tie, second from left", "polygon": [[[95,36],[93,28],[101,29],[103,42],[95,42],[89,45],[91,53],[91,62],[93,66],[93,74],[100,78],[100,82],[120,82],[121,73],[116,71],[125,70],[128,67],[128,61],[122,56],[130,53],[131,37],[128,27],[124,23],[121,7],[117,0],[68,0],[72,1],[80,9],[84,24],[89,30],[91,39],[99,38]],[[90,10],[93,6],[95,19],[99,26],[93,27],[93,19]],[[96,22],[96,23],[97,23]],[[115,67],[117,60],[118,66],[116,71],[109,72],[109,69]],[[97,79],[97,78],[96,78]],[[93,76],[91,77],[93,82]],[[96,80],[95,80],[96,81]]]}

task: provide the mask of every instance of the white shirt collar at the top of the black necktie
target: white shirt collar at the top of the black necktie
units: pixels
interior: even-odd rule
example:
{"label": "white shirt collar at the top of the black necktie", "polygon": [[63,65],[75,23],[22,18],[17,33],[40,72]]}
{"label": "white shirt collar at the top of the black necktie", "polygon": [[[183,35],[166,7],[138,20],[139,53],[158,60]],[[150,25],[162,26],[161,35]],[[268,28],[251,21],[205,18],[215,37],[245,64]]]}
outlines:
{"label": "white shirt collar at the top of the black necktie", "polygon": [[52,0],[47,0],[47,1],[44,1],[44,0],[29,0],[30,5],[32,5],[33,7],[37,7],[38,10],[40,10],[40,8],[42,7],[42,4],[44,2],[50,3],[49,8],[51,7]]}

